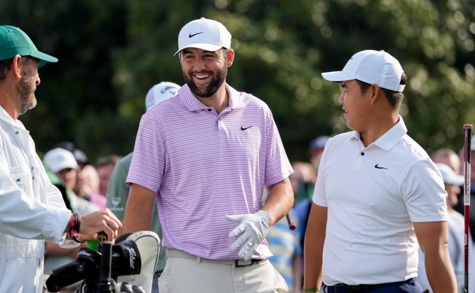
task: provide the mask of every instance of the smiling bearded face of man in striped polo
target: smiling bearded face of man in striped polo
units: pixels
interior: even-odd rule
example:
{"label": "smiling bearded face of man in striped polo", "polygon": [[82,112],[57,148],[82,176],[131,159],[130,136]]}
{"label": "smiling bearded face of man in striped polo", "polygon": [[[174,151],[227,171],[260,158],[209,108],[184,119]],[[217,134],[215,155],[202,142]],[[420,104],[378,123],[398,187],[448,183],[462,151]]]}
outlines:
{"label": "smiling bearded face of man in striped polo", "polygon": [[234,51],[219,49],[214,52],[198,48],[185,48],[180,51],[183,77],[191,91],[198,97],[214,95],[226,81],[228,67],[234,59]]}

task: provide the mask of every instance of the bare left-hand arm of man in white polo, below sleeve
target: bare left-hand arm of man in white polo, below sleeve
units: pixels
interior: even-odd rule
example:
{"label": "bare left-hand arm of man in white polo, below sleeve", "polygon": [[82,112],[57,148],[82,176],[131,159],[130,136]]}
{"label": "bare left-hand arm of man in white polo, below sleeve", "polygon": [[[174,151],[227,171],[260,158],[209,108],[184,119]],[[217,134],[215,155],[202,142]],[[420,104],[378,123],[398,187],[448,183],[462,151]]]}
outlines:
{"label": "bare left-hand arm of man in white polo, below sleeve", "polygon": [[320,289],[322,278],[323,246],[327,230],[327,208],[312,205],[304,242],[304,289]]}

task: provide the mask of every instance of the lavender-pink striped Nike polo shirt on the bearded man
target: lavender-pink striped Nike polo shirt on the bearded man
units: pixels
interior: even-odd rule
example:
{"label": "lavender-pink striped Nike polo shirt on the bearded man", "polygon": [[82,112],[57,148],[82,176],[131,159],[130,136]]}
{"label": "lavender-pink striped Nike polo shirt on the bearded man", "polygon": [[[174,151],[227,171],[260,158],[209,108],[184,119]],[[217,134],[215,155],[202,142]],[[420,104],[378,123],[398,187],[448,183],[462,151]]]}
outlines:
{"label": "lavender-pink striped Nike polo shirt on the bearded man", "polygon": [[[264,186],[293,172],[269,107],[228,84],[220,115],[191,92],[142,116],[127,182],[156,191],[164,247],[211,259],[238,259],[226,214],[262,208]],[[272,253],[263,241],[253,258]]]}

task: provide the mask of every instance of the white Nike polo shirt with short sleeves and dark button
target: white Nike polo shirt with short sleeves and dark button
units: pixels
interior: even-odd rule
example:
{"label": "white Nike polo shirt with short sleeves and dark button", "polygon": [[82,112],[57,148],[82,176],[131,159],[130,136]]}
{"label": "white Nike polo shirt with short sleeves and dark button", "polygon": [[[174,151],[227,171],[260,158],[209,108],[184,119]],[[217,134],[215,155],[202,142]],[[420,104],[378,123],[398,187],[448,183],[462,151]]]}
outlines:
{"label": "white Nike polo shirt with short sleeves and dark button", "polygon": [[417,276],[412,222],[446,221],[442,176],[402,117],[364,147],[351,131],[328,140],[313,202],[328,207],[326,285],[381,284]]}

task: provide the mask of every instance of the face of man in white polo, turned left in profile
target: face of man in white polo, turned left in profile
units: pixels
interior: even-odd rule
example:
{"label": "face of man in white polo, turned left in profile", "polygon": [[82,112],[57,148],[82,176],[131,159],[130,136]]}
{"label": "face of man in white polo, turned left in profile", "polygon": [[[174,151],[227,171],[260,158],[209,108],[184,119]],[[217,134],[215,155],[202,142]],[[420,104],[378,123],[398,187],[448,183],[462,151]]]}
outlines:
{"label": "face of man in white polo, turned left in profile", "polygon": [[361,92],[360,85],[355,80],[341,82],[341,88],[338,103],[343,105],[346,125],[350,129],[363,132],[368,115],[371,115],[369,98]]}

